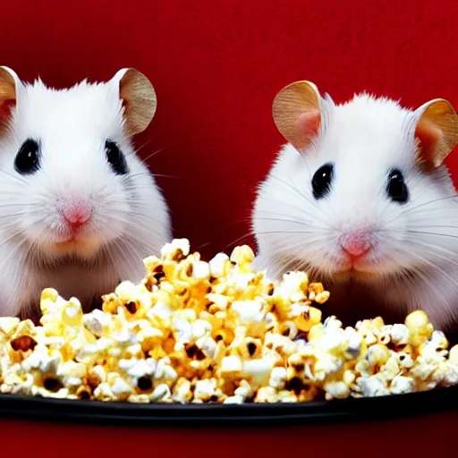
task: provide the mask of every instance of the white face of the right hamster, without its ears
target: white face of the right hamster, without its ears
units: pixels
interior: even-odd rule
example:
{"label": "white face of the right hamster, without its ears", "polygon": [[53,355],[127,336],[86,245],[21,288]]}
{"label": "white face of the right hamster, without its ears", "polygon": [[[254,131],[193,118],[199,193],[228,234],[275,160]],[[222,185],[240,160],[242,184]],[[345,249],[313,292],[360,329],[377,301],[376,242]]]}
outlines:
{"label": "white face of the right hamster, without its ears", "polygon": [[417,165],[412,112],[368,95],[322,109],[314,144],[287,144],[259,186],[258,267],[370,283],[421,276],[458,253],[456,192],[444,167]]}

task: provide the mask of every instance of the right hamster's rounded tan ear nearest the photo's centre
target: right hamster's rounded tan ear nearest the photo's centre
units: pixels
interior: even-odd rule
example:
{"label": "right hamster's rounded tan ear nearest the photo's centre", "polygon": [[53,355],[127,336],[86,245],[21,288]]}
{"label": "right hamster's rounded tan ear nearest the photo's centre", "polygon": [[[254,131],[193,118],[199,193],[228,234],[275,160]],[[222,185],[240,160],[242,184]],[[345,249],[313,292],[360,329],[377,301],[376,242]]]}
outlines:
{"label": "right hamster's rounded tan ear nearest the photo's centre", "polygon": [[317,86],[296,81],[280,90],[272,104],[276,128],[294,148],[304,149],[318,135],[321,124]]}

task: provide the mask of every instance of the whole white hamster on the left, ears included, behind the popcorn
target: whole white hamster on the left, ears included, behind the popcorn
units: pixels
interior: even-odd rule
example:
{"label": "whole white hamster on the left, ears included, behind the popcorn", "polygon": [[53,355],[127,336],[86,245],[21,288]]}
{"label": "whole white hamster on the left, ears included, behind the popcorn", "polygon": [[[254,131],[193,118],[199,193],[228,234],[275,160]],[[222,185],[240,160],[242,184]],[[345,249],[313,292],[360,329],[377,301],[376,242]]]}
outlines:
{"label": "whole white hamster on the left, ears included, behind the popcorn", "polygon": [[157,106],[146,76],[50,89],[0,67],[0,315],[28,318],[43,288],[88,310],[171,240],[168,208],[131,136]]}

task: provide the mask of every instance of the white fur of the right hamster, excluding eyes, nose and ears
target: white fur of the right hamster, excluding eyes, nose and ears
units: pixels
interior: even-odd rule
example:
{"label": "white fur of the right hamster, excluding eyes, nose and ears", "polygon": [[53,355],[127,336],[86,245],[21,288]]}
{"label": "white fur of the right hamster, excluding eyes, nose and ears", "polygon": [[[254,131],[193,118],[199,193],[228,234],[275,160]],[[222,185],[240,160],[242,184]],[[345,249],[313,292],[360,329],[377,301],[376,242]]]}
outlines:
{"label": "white fur of the right hamster, excluding eyes, nose and ears", "polygon": [[[333,285],[351,280],[387,306],[421,308],[437,327],[449,326],[458,315],[458,201],[448,198],[456,193],[445,166],[424,174],[415,162],[419,114],[367,94],[339,106],[321,99],[320,109],[314,144],[301,152],[286,144],[259,186],[252,216],[256,267],[274,277],[305,268],[331,296]],[[315,200],[311,178],[327,162],[335,163],[331,193]],[[410,192],[405,205],[386,196],[394,167]],[[377,231],[366,264],[336,276],[344,265],[339,236],[366,224]]]}

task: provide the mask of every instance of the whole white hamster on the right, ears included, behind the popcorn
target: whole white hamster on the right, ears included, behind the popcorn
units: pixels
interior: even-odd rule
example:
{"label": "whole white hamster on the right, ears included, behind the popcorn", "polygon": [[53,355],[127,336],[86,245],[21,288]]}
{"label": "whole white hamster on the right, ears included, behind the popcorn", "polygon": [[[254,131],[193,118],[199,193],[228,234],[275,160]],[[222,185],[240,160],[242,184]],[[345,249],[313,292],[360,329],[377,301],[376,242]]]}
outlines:
{"label": "whole white hamster on the right, ears included, behind the popcorn", "polygon": [[255,267],[309,271],[335,314],[420,308],[438,328],[456,325],[458,199],[444,165],[458,144],[454,107],[366,93],[337,105],[298,81],[273,116],[288,143],[258,188]]}

